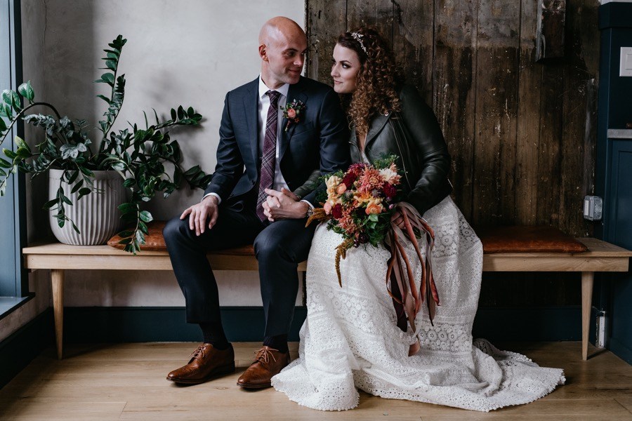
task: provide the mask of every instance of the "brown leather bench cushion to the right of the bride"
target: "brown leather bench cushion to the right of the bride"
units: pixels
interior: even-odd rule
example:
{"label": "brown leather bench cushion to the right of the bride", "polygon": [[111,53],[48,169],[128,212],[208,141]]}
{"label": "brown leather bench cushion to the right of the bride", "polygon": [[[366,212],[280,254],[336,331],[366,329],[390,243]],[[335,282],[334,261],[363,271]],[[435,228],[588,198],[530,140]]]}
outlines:
{"label": "brown leather bench cushion to the right of the bride", "polygon": [[476,234],[483,252],[492,253],[581,253],[587,248],[572,236],[557,228],[538,225],[511,227],[482,227]]}

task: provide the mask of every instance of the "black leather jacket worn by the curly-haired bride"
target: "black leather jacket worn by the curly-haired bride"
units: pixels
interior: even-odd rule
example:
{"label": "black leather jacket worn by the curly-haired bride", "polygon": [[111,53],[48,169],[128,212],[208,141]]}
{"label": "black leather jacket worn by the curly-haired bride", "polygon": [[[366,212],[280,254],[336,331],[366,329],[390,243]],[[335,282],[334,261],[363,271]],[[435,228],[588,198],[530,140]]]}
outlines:
{"label": "black leather jacket worn by the curly-haired bride", "polygon": [[[371,162],[384,155],[400,157],[397,167],[404,171],[404,200],[423,215],[452,192],[447,178],[451,159],[437,118],[416,88],[404,86],[400,99],[402,111],[371,121],[364,154]],[[362,161],[355,128],[349,142],[352,161]]]}

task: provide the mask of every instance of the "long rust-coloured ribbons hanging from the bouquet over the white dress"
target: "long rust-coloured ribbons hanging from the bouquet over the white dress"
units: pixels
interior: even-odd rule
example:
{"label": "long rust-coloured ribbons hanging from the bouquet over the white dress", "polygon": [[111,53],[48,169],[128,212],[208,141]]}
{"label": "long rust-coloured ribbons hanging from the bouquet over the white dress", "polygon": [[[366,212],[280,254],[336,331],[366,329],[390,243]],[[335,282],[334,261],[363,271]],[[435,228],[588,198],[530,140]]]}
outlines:
{"label": "long rust-coloured ribbons hanging from the bouquet over the white dress", "polygon": [[[439,305],[439,294],[437,293],[437,286],[435,285],[435,279],[433,277],[433,265],[432,250],[435,245],[435,232],[428,225],[428,222],[421,218],[419,212],[409,203],[400,202],[395,205],[396,210],[400,210],[402,219],[404,220],[404,230],[397,227],[394,222],[391,222],[390,229],[386,235],[386,246],[390,250],[390,258],[388,259],[388,269],[386,270],[386,290],[388,295],[396,302],[399,302],[404,307],[404,312],[408,317],[410,327],[416,333],[415,317],[421,309],[421,304],[426,301],[428,306],[428,316],[430,317],[430,324],[433,324],[433,318],[435,317],[437,305]],[[426,240],[426,260],[424,262],[423,255],[421,255],[421,249],[417,242],[415,230],[421,233],[423,239]],[[419,290],[417,289],[415,279],[412,273],[411,262],[406,255],[404,247],[400,243],[400,239],[406,237],[414,246],[419,262],[421,262],[421,283],[419,284]],[[406,265],[406,271],[402,267],[402,260]],[[400,289],[401,298],[395,297],[391,288],[391,275],[395,278],[397,286]],[[433,324],[434,326],[434,324]],[[411,345],[410,354],[414,354],[419,349],[419,342]]]}

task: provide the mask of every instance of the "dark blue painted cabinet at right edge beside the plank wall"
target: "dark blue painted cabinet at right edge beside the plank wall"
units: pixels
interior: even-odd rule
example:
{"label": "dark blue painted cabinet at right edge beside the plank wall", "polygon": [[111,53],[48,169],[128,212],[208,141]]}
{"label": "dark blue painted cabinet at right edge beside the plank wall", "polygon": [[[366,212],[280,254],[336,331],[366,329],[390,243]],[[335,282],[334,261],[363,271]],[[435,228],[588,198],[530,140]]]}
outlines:
{"label": "dark blue painted cabinet at right edge beside the plank wall", "polygon": [[[601,58],[595,191],[604,199],[595,234],[632,250],[632,76],[619,76],[621,48],[632,47],[632,4],[600,6]],[[632,363],[632,272],[604,276],[607,345]]]}

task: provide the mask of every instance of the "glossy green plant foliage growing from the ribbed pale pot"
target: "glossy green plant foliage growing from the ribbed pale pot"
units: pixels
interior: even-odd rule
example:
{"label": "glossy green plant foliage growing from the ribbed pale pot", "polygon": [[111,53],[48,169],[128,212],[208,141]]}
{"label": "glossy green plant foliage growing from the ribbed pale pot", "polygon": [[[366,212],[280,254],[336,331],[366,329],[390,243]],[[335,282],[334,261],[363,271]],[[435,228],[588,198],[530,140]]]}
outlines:
{"label": "glossy green plant foliage growing from the ribbed pale pot", "polygon": [[[142,204],[159,193],[164,197],[169,196],[185,180],[192,187],[204,189],[210,175],[206,175],[199,166],[185,171],[181,166],[180,145],[177,140],[171,140],[167,131],[173,126],[199,124],[202,115],[192,107],[174,107],[166,119],[161,119],[154,110],[155,123],[152,124],[143,112],[143,127],[135,123],[130,128],[112,130],[125,97],[125,75],[118,75],[118,68],[126,42],[119,35],[108,44],[110,48],[104,50],[103,58],[106,72],[95,81],[110,87],[108,95],[97,95],[107,104],[107,110],[103,114],[104,119],[99,121],[98,130],[102,136],[96,150],[86,133],[86,121],[72,121],[67,116],[62,117],[50,103],[35,102],[30,82],[22,83],[17,92],[3,91],[0,101],[0,145],[20,119],[41,127],[44,139],[31,149],[27,142],[16,137],[15,152],[3,149],[6,159],[0,156],[0,195],[6,190],[8,177],[17,171],[37,176],[56,170],[60,181],[44,208],[53,212],[58,227],[63,228],[68,222],[75,232],[79,232],[74,220],[68,216],[68,207],[78,207],[85,196],[103,193],[104,188],[96,185],[98,171],[116,171],[122,186],[131,192],[129,200],[117,206],[121,220],[128,225],[128,228],[119,232],[119,236],[123,237],[121,243],[125,244],[125,250],[136,253],[145,243],[147,222],[152,220],[152,215],[142,209]],[[53,114],[27,114],[34,107],[46,107]],[[74,202],[69,196],[74,198]]]}

